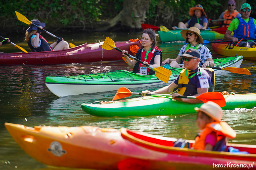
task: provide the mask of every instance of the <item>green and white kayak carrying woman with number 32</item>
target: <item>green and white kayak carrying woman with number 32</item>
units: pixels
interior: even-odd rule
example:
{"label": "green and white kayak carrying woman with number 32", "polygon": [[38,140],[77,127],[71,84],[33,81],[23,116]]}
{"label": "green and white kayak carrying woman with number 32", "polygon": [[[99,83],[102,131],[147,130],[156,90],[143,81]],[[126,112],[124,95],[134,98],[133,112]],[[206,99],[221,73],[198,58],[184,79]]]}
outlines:
{"label": "green and white kayak carrying woman with number 32", "polygon": [[[214,59],[214,67],[240,67],[243,56]],[[168,84],[173,82],[182,69],[172,68],[172,74]],[[215,74],[225,72],[214,69]],[[83,93],[98,93],[118,90],[120,87],[138,88],[152,85],[165,84],[155,75],[138,75],[132,72],[117,70],[88,75],[77,75],[68,77],[46,77],[45,84],[49,90],[58,97],[67,95],[79,95]]]}

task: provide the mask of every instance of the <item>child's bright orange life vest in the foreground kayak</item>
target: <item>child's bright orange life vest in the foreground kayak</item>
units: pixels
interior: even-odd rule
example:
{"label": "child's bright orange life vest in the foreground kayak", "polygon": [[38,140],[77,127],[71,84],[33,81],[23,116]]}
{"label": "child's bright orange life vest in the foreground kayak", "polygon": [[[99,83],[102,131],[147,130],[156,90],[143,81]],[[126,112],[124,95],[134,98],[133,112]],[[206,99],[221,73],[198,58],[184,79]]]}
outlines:
{"label": "child's bright orange life vest in the foreground kayak", "polygon": [[194,149],[204,150],[206,136],[212,132],[216,132],[216,143],[223,139],[223,137],[230,139],[236,137],[236,132],[226,122],[211,122],[206,124],[206,127],[198,134],[192,147]]}

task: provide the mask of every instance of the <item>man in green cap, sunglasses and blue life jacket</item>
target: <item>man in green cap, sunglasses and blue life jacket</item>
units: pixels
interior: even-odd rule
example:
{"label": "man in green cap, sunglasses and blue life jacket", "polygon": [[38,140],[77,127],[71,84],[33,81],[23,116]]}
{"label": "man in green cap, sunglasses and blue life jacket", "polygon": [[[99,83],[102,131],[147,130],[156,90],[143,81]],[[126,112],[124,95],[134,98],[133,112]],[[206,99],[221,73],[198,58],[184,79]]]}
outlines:
{"label": "man in green cap, sunglasses and blue life jacket", "polygon": [[[254,41],[238,42],[238,39],[246,40],[255,38],[256,20],[250,17],[252,12],[250,4],[242,4],[240,12],[242,17],[232,20],[224,37],[228,40],[232,40],[234,42],[234,46],[254,48],[256,47],[256,43]],[[234,32],[233,36],[231,36],[232,31]]]}

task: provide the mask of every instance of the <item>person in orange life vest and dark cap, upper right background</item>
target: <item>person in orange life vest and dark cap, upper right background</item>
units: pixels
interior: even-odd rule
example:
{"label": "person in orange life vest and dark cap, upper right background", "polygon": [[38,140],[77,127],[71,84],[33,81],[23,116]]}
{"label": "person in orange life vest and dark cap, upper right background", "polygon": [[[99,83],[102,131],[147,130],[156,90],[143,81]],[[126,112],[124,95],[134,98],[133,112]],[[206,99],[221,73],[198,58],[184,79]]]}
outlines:
{"label": "person in orange life vest and dark cap, upper right background", "polygon": [[[224,12],[222,12],[218,18],[218,20],[223,19],[222,27],[227,27],[230,22],[233,20],[233,18],[241,17],[241,14],[236,10],[236,1],[235,0],[229,0],[228,1],[228,9],[226,9]],[[211,22],[211,19],[209,19],[209,23]],[[212,22],[212,25],[220,25],[221,21],[214,21]]]}

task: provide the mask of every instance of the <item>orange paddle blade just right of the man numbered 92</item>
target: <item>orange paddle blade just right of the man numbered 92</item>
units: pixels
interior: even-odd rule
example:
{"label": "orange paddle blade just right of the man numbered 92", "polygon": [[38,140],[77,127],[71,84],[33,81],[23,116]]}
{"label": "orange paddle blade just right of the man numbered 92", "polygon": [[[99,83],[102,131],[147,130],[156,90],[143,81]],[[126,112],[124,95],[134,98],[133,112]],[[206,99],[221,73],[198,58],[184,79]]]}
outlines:
{"label": "orange paddle blade just right of the man numbered 92", "polygon": [[212,101],[217,103],[220,107],[226,106],[226,100],[220,92],[208,92],[196,96],[196,99],[201,100],[203,103]]}

